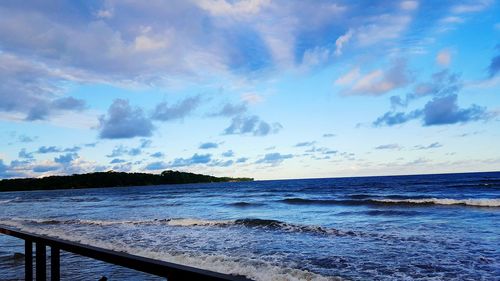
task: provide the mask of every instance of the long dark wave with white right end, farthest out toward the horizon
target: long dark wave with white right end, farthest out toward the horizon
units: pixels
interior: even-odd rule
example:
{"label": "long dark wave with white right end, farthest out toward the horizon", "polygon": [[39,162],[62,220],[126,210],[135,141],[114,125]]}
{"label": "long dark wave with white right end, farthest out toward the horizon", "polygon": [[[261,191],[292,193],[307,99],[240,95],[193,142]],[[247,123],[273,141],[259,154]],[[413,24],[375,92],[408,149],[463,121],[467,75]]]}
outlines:
{"label": "long dark wave with white right end, farthest out toward the horizon", "polygon": [[[361,197],[361,196],[360,196]],[[474,207],[500,207],[500,199],[449,199],[449,198],[408,198],[408,199],[304,199],[286,198],[281,203],[291,205],[461,205]]]}

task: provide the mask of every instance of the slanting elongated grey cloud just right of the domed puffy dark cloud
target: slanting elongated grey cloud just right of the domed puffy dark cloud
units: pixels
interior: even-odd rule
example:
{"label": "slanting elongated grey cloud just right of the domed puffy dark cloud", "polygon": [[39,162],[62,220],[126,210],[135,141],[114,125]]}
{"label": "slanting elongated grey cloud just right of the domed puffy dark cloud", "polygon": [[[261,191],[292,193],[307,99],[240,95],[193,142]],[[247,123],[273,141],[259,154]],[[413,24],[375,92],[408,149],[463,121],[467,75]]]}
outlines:
{"label": "slanting elongated grey cloud just right of the domed puffy dark cloud", "polygon": [[183,119],[201,104],[201,96],[189,97],[179,103],[168,106],[166,102],[158,104],[152,118],[158,121]]}

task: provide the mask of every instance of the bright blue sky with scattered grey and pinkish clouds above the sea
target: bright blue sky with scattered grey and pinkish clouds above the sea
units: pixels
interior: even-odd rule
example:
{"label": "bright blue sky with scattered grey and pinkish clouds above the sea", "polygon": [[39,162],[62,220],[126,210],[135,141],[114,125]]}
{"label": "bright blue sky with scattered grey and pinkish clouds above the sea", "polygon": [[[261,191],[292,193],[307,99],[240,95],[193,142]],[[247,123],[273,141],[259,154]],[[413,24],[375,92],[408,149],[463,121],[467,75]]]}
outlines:
{"label": "bright blue sky with scattered grey and pinkish clouds above the sea", "polygon": [[499,144],[499,1],[0,2],[0,178],[498,171]]}

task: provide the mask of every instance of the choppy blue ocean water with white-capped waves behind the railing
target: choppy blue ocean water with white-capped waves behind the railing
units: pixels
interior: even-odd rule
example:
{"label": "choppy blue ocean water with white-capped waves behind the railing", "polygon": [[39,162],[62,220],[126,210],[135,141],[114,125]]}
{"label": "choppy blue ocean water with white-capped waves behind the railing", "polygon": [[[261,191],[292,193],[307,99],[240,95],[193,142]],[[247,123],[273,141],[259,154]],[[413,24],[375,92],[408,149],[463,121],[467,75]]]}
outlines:
{"label": "choppy blue ocean water with white-capped waves behind the railing", "polygon": [[[499,280],[500,173],[0,193],[0,224],[255,280]],[[0,235],[0,280],[22,280]],[[63,253],[64,280],[161,280]]]}

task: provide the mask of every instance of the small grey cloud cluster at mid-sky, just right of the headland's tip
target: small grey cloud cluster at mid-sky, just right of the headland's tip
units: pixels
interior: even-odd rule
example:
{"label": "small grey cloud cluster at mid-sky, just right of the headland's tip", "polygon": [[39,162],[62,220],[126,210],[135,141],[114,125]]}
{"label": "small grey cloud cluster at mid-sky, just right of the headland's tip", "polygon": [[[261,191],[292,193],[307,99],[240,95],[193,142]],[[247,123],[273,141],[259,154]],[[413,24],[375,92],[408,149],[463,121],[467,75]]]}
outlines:
{"label": "small grey cloud cluster at mid-sky, just right of the headland's tip", "polygon": [[280,123],[269,124],[260,120],[256,115],[237,116],[231,121],[231,125],[224,130],[226,135],[252,134],[254,136],[266,136],[279,132],[283,126]]}

